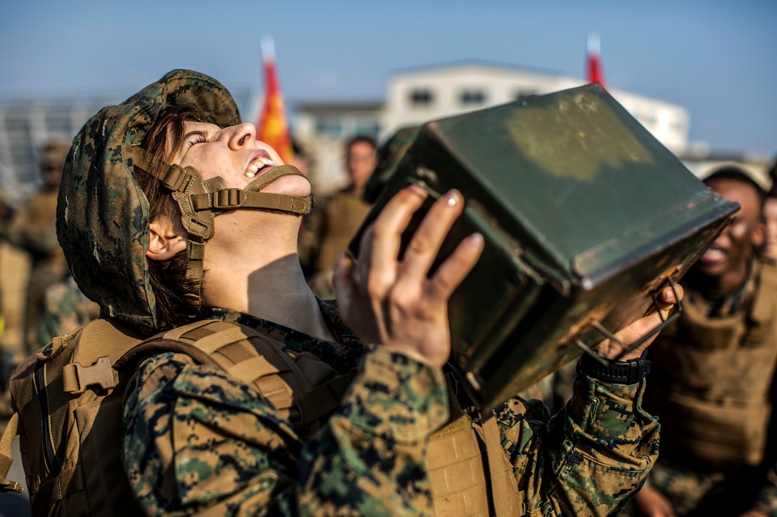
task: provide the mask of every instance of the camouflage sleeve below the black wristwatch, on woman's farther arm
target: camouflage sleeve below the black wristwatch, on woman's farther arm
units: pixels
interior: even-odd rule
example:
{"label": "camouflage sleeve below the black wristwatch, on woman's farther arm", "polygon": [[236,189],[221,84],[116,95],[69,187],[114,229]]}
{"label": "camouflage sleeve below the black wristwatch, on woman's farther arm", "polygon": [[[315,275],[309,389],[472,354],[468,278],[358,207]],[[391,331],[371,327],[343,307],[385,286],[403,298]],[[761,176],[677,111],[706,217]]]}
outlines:
{"label": "camouflage sleeve below the black wristwatch, on woman's farther arm", "polygon": [[578,377],[549,420],[540,401],[495,411],[527,515],[617,515],[658,455],[659,425],[639,407],[643,389],[644,381]]}

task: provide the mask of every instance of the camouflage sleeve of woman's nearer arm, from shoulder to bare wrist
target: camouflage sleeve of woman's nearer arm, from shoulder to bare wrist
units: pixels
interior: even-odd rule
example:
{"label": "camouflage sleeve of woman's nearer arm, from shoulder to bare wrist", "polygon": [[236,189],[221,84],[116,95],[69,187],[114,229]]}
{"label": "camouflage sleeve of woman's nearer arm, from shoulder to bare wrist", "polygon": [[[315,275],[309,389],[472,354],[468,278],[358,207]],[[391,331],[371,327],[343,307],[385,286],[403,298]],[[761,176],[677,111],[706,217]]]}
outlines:
{"label": "camouflage sleeve of woman's nearer arm, from shoulder to bare wrist", "polygon": [[448,418],[440,370],[378,347],[311,439],[245,383],[168,352],[124,404],[122,458],[149,515],[420,515],[424,443]]}

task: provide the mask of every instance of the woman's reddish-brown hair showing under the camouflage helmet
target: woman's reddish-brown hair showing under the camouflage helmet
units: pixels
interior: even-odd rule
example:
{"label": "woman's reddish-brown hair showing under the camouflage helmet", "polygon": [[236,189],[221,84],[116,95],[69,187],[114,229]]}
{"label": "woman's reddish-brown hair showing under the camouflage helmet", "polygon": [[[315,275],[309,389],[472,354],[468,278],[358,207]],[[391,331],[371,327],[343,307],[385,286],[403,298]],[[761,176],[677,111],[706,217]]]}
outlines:
{"label": "woman's reddish-brown hair showing under the camouflage helmet", "polygon": [[[153,156],[151,173],[166,172],[166,160],[183,139],[183,123],[199,120],[200,113],[193,106],[177,106],[162,112],[141,146]],[[135,176],[148,199],[148,220],[159,217],[180,220],[178,203],[159,179],[140,168],[135,168]],[[148,261],[148,275],[156,297],[156,317],[162,329],[189,323],[200,315],[199,286],[186,279],[188,260],[186,252],[180,252],[172,259]]]}

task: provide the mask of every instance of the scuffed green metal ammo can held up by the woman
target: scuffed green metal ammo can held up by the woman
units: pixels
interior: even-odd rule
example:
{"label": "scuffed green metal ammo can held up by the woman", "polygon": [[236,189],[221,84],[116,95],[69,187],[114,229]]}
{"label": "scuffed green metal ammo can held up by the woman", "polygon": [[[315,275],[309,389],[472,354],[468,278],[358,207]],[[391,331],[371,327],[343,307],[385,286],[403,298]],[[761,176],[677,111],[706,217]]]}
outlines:
{"label": "scuffed green metal ammo can held up by the woman", "polygon": [[598,84],[424,124],[354,256],[410,182],[430,196],[403,244],[449,189],[465,199],[433,271],[467,235],[485,237],[448,304],[451,365],[484,410],[646,314],[739,210]]}

